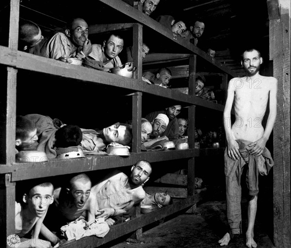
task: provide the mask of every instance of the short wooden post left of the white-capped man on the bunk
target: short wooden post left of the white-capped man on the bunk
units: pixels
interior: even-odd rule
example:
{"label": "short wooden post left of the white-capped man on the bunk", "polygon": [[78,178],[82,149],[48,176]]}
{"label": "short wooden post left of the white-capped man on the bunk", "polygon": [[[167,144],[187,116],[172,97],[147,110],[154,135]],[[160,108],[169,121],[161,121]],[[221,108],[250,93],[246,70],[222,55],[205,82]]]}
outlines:
{"label": "short wooden post left of the white-capped man on the bunk", "polygon": [[142,92],[132,96],[132,152],[141,151]]}

